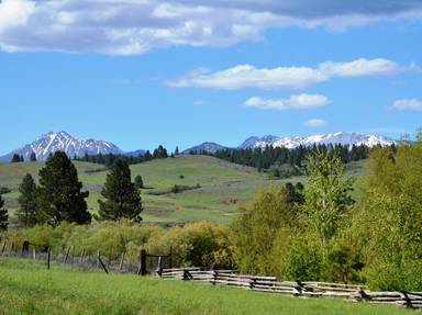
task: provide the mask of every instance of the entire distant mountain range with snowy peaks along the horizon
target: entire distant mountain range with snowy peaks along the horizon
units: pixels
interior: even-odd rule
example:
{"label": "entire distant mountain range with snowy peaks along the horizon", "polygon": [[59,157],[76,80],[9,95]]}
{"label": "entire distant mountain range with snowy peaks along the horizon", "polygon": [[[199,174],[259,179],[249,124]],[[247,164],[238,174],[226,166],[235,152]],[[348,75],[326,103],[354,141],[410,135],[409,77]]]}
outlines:
{"label": "entire distant mountain range with snowy peaks along the horizon", "polygon": [[[395,144],[393,139],[389,139],[384,136],[376,136],[370,134],[362,133],[345,133],[338,132],[333,134],[320,134],[312,135],[308,137],[279,137],[274,135],[266,135],[263,137],[252,136],[242,143],[237,148],[265,148],[266,146],[275,147],[286,147],[286,148],[296,148],[300,145],[310,146],[313,144],[342,144],[342,145],[366,145],[369,147],[381,145],[390,146]],[[198,146],[193,146],[184,150],[184,154],[189,154],[190,151],[209,151],[214,153],[220,149],[229,148],[215,143],[207,142]],[[30,159],[32,153],[35,153],[37,160],[45,160],[51,154],[55,151],[65,151],[69,157],[82,157],[86,154],[97,155],[97,154],[114,154],[114,155],[125,155],[125,156],[138,156],[145,153],[144,149],[138,149],[134,151],[123,151],[116,145],[107,142],[107,140],[96,140],[96,139],[78,139],[73,137],[66,132],[58,133],[47,133],[42,135],[40,138],[34,140],[31,144],[24,145],[2,157],[0,161],[10,161],[14,154],[23,156],[25,160]]]}

